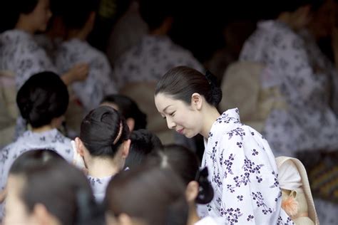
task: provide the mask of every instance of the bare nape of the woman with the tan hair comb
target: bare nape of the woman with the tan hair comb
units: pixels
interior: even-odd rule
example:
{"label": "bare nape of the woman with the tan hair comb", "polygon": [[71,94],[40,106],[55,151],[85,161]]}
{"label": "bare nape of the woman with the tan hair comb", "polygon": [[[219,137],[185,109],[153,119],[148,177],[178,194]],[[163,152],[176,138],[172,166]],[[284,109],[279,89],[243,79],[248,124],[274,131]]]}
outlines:
{"label": "bare nape of the woman with the tan hair comb", "polygon": [[93,157],[87,163],[88,175],[96,178],[111,177],[121,171],[121,167],[108,157]]}

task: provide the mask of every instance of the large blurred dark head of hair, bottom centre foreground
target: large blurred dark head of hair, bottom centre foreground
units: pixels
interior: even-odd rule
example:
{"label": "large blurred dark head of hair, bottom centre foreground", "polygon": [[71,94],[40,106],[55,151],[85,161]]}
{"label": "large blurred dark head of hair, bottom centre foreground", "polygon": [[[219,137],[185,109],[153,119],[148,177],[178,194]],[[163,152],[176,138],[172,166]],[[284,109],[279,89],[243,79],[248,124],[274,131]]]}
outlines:
{"label": "large blurred dark head of hair, bottom centre foreground", "polygon": [[184,185],[170,169],[145,166],[121,172],[108,184],[105,201],[108,214],[124,213],[148,225],[188,221]]}

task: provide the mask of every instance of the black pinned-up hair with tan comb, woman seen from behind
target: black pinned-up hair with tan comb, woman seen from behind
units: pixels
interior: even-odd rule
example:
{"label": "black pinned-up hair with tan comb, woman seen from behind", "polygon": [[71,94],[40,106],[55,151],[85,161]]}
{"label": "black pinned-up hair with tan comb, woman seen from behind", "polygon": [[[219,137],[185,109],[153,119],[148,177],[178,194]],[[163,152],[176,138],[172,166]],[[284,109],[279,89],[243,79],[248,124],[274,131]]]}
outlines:
{"label": "black pinned-up hair with tan comb, woman seen from behind", "polygon": [[129,139],[129,129],[118,111],[100,106],[83,119],[80,139],[91,155],[114,157],[118,147]]}

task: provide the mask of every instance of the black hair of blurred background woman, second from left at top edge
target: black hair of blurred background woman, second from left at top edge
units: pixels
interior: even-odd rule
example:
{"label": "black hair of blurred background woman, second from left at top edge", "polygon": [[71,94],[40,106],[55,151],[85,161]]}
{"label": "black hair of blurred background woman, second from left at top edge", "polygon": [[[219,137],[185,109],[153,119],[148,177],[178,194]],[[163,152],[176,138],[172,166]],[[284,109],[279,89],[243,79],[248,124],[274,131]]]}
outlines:
{"label": "black hair of blurred background woman, second from left at top edge", "polygon": [[[92,12],[98,9],[98,0],[69,0],[61,17],[66,28],[81,29],[86,25]],[[76,13],[76,15],[74,15]]]}

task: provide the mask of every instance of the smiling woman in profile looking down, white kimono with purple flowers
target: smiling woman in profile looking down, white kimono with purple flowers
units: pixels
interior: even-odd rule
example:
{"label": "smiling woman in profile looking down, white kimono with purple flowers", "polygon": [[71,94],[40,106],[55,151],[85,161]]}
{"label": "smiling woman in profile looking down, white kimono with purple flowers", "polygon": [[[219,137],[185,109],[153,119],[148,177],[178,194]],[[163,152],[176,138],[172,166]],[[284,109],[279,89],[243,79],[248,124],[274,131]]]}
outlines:
{"label": "smiling woman in profile looking down, white kimono with purple flowers", "polygon": [[269,144],[240,122],[237,108],[220,114],[221,98],[213,75],[185,66],[170,69],[155,88],[155,105],[168,128],[205,138],[202,167],[208,167],[215,193],[200,215],[222,216],[232,224],[292,224],[281,208]]}

